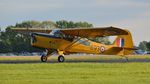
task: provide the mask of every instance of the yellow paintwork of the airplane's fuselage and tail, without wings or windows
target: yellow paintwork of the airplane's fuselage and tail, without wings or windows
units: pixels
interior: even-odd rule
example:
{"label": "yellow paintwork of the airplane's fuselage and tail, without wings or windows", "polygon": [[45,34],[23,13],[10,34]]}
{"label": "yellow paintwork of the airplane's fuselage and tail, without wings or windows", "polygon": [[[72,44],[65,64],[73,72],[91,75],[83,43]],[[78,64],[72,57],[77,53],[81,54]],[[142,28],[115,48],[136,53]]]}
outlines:
{"label": "yellow paintwork of the airplane's fuselage and tail, without wings or windows", "polygon": [[56,49],[62,52],[70,53],[92,53],[92,54],[104,54],[104,55],[128,55],[133,51],[133,41],[131,33],[128,30],[127,35],[118,35],[118,38],[123,38],[125,41],[124,48],[117,47],[116,41],[112,45],[105,45],[101,43],[96,43],[88,40],[90,45],[83,45],[79,42],[74,44],[71,41],[67,41],[63,38],[49,38],[43,36],[35,36],[36,42],[32,46],[46,48],[46,49]]}

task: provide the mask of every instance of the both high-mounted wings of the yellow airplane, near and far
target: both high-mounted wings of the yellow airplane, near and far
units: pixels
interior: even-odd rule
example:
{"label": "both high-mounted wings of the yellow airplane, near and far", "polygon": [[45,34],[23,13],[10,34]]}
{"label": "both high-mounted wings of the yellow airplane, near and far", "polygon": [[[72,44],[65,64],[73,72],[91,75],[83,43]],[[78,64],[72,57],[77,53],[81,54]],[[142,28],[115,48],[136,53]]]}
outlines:
{"label": "both high-mounted wings of the yellow airplane, near and far", "polygon": [[[50,33],[52,29],[44,28],[12,28],[19,32],[41,32]],[[116,27],[97,27],[97,28],[69,28],[59,29],[65,35],[79,36],[79,37],[96,37],[96,36],[114,36],[128,34],[124,29]]]}

